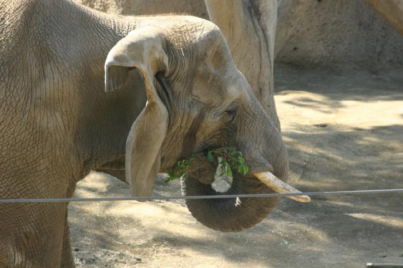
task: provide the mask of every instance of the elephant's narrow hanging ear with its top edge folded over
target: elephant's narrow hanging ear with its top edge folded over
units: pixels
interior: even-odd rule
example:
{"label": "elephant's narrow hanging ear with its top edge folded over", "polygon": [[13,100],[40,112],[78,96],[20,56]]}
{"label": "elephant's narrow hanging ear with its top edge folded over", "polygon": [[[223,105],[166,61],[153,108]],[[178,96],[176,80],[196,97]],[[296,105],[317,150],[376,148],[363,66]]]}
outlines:
{"label": "elephant's narrow hanging ear with its top edge folded over", "polygon": [[159,28],[144,27],[121,39],[105,62],[105,91],[125,85],[129,71],[134,68],[141,73],[146,87],[146,107],[131,126],[126,140],[126,182],[133,197],[151,196],[160,169],[168,111],[157,93],[155,75],[168,69],[165,44],[165,35]]}

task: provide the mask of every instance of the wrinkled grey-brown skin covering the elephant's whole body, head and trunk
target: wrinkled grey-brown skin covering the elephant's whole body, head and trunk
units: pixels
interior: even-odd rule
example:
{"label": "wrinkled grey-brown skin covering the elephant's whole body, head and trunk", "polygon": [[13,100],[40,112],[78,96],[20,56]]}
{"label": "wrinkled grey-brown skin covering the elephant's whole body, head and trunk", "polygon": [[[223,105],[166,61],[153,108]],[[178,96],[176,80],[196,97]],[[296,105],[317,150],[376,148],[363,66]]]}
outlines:
{"label": "wrinkled grey-brown skin covering the elephant's whole body, head and trunk", "polygon": [[[286,181],[281,135],[211,22],[47,0],[2,1],[0,18],[1,198],[72,197],[91,169],[124,169],[125,160],[128,181],[149,187],[157,172],[209,146],[234,145],[249,173],[274,170]],[[217,194],[200,178],[215,166],[199,164],[183,192]],[[250,174],[236,175],[228,191],[268,192]],[[278,199],[192,202],[201,223],[240,231]],[[74,266],[67,204],[1,204],[0,222],[0,267]]]}

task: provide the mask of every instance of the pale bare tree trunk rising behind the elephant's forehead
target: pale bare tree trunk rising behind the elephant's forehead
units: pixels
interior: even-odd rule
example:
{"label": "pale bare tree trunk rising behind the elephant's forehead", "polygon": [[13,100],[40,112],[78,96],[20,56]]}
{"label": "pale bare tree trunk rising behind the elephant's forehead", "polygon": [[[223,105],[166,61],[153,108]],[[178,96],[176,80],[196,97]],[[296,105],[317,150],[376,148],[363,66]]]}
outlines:
{"label": "pale bare tree trunk rising behind the elephant's forehead", "polygon": [[206,6],[210,20],[227,39],[236,66],[280,129],[273,82],[277,0],[206,0]]}

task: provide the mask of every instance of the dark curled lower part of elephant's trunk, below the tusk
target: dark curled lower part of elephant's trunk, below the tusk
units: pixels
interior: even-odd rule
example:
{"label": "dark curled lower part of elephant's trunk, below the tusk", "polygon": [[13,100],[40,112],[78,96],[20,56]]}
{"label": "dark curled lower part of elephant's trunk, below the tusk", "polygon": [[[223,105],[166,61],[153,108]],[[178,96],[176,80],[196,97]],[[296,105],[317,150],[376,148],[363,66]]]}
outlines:
{"label": "dark curled lower part of elephant's trunk, below the tusk", "polygon": [[[218,195],[210,184],[191,176],[181,178],[183,195]],[[234,174],[231,188],[223,194],[267,194],[274,191],[254,177]],[[200,223],[217,231],[238,232],[261,222],[277,205],[280,198],[189,199],[186,206]]]}

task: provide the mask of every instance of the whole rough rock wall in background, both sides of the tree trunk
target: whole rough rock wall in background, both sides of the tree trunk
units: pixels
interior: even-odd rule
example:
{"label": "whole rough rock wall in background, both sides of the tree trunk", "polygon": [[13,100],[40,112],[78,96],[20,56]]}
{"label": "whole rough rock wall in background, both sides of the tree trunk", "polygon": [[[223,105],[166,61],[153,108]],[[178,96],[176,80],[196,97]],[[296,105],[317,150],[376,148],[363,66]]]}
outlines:
{"label": "whole rough rock wall in background, both sides of the tree trunk", "polygon": [[[184,13],[209,19],[204,0],[75,1],[121,15]],[[290,23],[292,29],[287,30],[287,40],[276,48],[276,63],[372,72],[403,67],[403,36],[364,0],[299,2],[307,2],[307,6],[298,21]]]}

